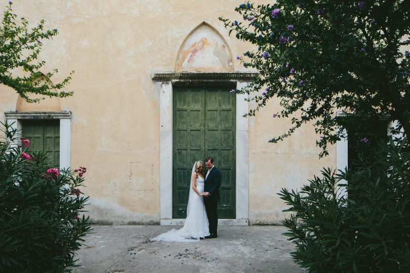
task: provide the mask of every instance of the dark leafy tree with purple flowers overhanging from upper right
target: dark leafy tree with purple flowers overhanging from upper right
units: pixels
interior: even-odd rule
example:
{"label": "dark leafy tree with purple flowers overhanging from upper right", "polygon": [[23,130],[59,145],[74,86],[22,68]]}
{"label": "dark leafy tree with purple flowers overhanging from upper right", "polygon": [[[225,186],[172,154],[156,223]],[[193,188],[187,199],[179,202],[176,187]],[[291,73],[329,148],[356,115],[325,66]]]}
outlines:
{"label": "dark leafy tree with purple flowers overhanging from upper right", "polygon": [[[238,39],[256,45],[240,58],[259,74],[246,93],[257,107],[280,101],[278,118],[294,116],[276,143],[306,122],[313,122],[326,155],[341,137],[337,111],[367,119],[398,120],[396,130],[410,133],[410,2],[292,1],[242,4],[244,19],[220,18]],[[251,18],[251,19],[249,19]],[[408,48],[407,48],[408,50]],[[303,84],[300,84],[303,82]],[[264,96],[258,93],[266,86]]]}

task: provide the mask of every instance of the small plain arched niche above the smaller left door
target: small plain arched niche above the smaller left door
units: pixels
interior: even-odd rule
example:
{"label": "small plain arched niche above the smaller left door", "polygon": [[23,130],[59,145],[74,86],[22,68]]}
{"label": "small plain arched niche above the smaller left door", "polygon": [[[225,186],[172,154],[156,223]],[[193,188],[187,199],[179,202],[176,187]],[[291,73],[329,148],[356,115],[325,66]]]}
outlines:
{"label": "small plain arched niche above the smaller left door", "polygon": [[[45,76],[40,76],[36,79],[40,83],[46,82]],[[52,82],[51,82],[52,84]],[[55,88],[52,89],[53,92],[57,92]],[[17,99],[16,111],[17,112],[60,112],[61,104],[60,98],[58,97],[46,97],[43,95],[27,94],[30,99],[44,98],[36,103],[28,103],[21,96]]]}

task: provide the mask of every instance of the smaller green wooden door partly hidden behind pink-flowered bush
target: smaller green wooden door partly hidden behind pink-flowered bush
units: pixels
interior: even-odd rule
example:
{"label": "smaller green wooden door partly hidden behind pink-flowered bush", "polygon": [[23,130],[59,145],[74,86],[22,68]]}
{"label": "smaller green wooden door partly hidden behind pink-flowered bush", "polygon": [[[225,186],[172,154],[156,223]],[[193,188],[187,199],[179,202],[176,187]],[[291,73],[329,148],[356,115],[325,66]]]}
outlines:
{"label": "smaller green wooden door partly hidden behind pink-flowered bush", "polygon": [[23,138],[30,140],[28,151],[47,152],[49,163],[60,166],[60,121],[59,120],[24,120]]}

